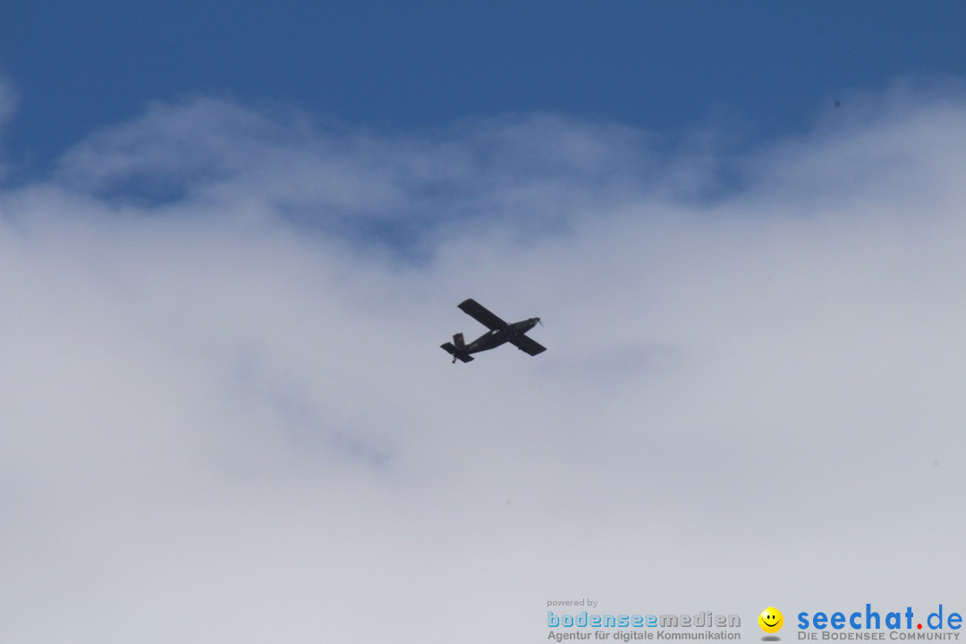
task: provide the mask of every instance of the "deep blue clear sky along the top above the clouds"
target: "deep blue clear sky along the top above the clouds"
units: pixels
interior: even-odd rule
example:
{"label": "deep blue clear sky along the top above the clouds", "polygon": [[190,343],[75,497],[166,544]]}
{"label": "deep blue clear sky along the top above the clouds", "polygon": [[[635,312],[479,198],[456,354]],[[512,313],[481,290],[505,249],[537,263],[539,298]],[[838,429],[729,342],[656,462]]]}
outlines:
{"label": "deep blue clear sky along the top above the clouds", "polygon": [[14,3],[7,143],[42,165],[154,100],[297,105],[389,130],[562,112],[740,141],[900,75],[966,69],[953,2]]}

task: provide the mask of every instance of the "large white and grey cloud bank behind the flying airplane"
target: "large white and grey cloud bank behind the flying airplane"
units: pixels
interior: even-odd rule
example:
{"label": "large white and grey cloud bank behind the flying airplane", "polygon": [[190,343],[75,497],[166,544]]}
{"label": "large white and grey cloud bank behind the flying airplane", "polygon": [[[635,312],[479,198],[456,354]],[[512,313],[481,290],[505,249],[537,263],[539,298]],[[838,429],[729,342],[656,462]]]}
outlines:
{"label": "large white and grey cloud bank behind the flying airplane", "polygon": [[[92,134],[0,193],[0,632],[952,602],[966,103],[903,96],[741,158],[212,98]],[[549,350],[451,365],[467,296]]]}

